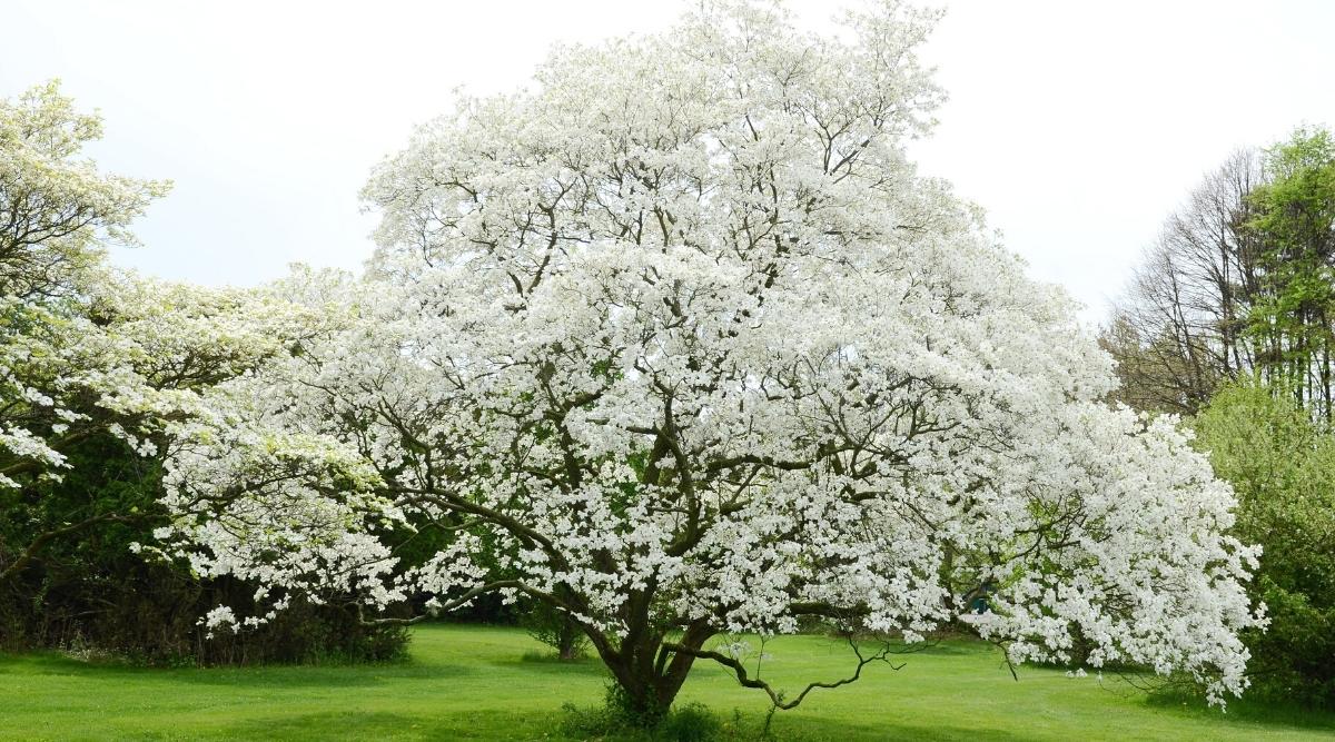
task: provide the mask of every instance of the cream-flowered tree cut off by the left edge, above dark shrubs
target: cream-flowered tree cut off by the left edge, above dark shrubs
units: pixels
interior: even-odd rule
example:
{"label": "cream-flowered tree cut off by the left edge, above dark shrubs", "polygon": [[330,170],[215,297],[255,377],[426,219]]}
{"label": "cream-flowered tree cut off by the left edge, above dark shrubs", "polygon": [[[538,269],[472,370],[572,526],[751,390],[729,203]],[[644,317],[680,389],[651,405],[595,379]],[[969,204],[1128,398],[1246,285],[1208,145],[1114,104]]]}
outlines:
{"label": "cream-flowered tree cut off by the left edge, above dark shrubs", "polygon": [[199,388],[286,351],[306,326],[256,292],[109,270],[103,246],[134,244],[129,223],[167,184],[81,159],[100,132],[55,83],[0,100],[0,585],[56,539],[136,518],[103,492],[49,502],[43,486],[79,446],[109,435],[156,455],[168,426],[208,411]]}

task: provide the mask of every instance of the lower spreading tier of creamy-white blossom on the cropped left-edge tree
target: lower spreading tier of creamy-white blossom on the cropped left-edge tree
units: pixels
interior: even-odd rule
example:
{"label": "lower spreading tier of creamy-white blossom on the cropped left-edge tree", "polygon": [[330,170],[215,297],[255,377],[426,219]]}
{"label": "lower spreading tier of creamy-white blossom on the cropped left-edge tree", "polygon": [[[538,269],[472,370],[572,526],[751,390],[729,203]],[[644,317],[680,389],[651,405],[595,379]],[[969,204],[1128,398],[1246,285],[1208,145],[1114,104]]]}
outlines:
{"label": "lower spreading tier of creamy-white blossom on the cropped left-edge tree", "polygon": [[60,478],[61,452],[109,432],[158,455],[215,411],[200,390],[286,354],[308,324],[256,292],[206,290],[88,266],[75,296],[0,300],[0,486]]}

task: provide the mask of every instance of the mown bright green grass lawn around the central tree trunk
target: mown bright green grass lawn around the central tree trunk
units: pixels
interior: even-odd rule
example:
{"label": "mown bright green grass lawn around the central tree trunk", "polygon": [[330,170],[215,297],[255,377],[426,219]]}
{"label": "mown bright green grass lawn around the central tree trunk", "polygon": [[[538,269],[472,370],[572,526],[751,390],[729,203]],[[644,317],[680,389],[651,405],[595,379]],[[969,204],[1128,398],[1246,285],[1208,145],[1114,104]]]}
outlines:
{"label": "mown bright green grass lawn around the central tree trunk", "polygon": [[[0,655],[3,739],[561,739],[561,706],[601,702],[597,662],[535,659],[522,631],[423,626],[395,665],[136,669],[59,654]],[[818,637],[770,643],[766,677],[834,679],[848,649]],[[527,658],[526,658],[527,655]],[[1319,739],[1335,715],[1246,703],[1227,714],[1147,698],[1121,682],[1021,669],[999,653],[944,642],[813,691],[774,719],[780,739]],[[773,673],[772,675],[769,673]],[[680,702],[758,729],[766,703],[706,662]]]}

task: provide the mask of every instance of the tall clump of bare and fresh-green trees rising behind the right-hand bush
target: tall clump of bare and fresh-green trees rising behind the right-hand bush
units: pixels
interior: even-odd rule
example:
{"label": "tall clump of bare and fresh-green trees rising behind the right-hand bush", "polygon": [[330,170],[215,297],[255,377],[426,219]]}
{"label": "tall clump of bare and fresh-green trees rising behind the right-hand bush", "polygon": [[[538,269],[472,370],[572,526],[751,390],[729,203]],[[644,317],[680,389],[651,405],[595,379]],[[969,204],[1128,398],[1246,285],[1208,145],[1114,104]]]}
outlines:
{"label": "tall clump of bare and fresh-green trees rising behind the right-hand bush", "polygon": [[1335,145],[1298,129],[1238,152],[1164,224],[1101,334],[1117,395],[1191,414],[1252,372],[1331,415]]}

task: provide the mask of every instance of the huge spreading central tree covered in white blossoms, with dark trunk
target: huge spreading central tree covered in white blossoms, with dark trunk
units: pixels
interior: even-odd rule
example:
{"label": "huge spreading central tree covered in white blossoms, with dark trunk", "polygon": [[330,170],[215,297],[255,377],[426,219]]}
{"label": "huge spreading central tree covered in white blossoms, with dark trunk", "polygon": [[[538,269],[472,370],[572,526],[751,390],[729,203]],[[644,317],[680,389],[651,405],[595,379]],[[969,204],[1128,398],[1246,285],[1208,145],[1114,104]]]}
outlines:
{"label": "huge spreading central tree covered in white blossoms, with dark trunk", "polygon": [[183,431],[195,569],[367,621],[525,595],[650,717],[698,661],[805,697],[720,634],[912,642],[980,595],[1016,661],[1079,635],[1093,666],[1239,693],[1259,618],[1230,490],[1172,420],[1099,402],[1069,302],[904,156],[941,99],[932,20],[885,3],[812,36],[708,5],[423,127],[366,188],[366,279],[278,286],[322,324]]}

